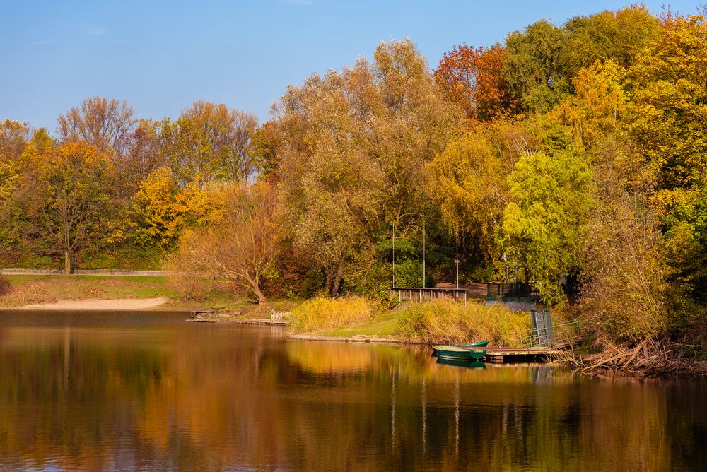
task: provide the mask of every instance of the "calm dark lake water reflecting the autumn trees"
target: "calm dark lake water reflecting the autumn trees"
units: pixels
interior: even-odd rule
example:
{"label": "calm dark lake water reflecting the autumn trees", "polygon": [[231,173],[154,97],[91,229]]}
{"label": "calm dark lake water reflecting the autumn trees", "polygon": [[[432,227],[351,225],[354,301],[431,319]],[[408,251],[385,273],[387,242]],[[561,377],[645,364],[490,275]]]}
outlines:
{"label": "calm dark lake water reflecting the autumn trees", "polygon": [[0,312],[0,469],[707,468],[705,381],[467,369],[184,318]]}

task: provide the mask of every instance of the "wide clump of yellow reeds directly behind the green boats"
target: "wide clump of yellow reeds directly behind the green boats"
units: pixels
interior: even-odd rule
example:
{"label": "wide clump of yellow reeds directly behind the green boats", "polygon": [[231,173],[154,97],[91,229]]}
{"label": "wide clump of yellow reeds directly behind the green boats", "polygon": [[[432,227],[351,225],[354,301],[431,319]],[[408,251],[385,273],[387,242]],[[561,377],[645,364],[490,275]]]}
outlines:
{"label": "wide clump of yellow reeds directly behind the green boats", "polygon": [[399,334],[423,343],[468,343],[488,339],[493,346],[521,347],[523,331],[530,329],[526,312],[506,305],[484,305],[452,300],[411,303],[402,308]]}

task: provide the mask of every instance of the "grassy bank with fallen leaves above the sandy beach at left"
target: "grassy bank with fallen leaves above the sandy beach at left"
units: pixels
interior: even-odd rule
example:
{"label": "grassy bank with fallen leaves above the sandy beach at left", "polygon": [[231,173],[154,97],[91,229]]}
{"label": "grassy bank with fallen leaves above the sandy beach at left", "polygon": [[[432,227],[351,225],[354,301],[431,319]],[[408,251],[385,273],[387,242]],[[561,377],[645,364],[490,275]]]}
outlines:
{"label": "grassy bank with fallen leaves above the sandy beach at left", "polygon": [[182,302],[165,277],[132,276],[5,276],[10,290],[0,296],[0,307],[22,307],[57,300],[119,298],[157,298],[168,300],[160,308],[212,307],[235,308],[243,302],[229,293],[212,290],[201,302]]}

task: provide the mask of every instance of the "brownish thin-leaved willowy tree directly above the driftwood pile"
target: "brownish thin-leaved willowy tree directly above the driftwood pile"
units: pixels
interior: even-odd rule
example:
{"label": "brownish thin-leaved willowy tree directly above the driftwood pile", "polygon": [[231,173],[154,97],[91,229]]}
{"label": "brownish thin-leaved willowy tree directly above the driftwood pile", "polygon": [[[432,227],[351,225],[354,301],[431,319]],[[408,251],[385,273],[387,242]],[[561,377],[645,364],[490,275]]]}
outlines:
{"label": "brownish thin-leaved willowy tree directly above the driftwood pile", "polygon": [[604,187],[581,259],[583,318],[604,346],[665,335],[667,266],[658,218],[640,196]]}

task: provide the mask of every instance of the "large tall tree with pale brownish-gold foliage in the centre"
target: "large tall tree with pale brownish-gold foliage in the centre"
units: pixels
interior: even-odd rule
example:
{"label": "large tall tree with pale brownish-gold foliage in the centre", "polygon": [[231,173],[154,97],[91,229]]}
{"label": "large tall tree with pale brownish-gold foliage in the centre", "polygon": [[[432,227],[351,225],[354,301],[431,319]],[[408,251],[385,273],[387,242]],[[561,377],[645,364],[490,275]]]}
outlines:
{"label": "large tall tree with pale brownish-gold foliage in the centre", "polygon": [[404,237],[423,213],[425,164],[461,124],[412,42],[373,57],[289,88],[275,110],[288,235],[332,296],[370,273],[358,264],[380,234]]}

